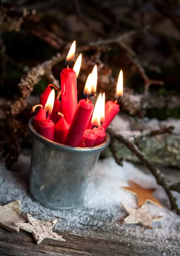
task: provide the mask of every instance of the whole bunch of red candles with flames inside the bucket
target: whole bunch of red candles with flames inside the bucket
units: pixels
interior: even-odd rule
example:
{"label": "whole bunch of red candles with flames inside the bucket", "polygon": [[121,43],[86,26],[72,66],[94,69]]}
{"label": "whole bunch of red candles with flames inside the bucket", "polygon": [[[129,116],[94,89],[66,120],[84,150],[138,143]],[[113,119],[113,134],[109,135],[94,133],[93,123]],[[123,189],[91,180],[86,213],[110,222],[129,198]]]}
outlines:
{"label": "whole bunch of red candles with flames inside the bucket", "polygon": [[[105,104],[105,93],[99,94],[95,107],[90,98],[96,96],[98,79],[97,66],[87,77],[84,87],[84,99],[77,100],[76,79],[82,62],[82,54],[76,60],[73,69],[69,64],[73,61],[76,41],[73,42],[67,55],[66,68],[60,73],[61,90],[49,84],[40,95],[38,113],[34,116],[34,128],[49,140],[74,147],[92,147],[104,142],[106,130],[120,111],[119,101],[123,95],[123,73],[119,73],[115,102]],[[55,90],[56,99],[55,99]],[[59,96],[61,95],[61,102]]]}

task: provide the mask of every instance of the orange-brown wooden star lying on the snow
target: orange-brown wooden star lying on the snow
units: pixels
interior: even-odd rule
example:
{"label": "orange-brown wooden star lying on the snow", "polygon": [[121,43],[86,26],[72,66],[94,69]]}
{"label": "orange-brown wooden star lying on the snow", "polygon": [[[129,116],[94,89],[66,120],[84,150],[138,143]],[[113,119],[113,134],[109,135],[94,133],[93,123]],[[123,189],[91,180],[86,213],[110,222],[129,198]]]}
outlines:
{"label": "orange-brown wooden star lying on the snow", "polygon": [[130,183],[131,187],[121,187],[121,188],[137,196],[138,208],[141,207],[146,202],[163,207],[162,204],[160,204],[160,202],[152,195],[155,189],[145,189],[133,181],[129,180],[128,182]]}

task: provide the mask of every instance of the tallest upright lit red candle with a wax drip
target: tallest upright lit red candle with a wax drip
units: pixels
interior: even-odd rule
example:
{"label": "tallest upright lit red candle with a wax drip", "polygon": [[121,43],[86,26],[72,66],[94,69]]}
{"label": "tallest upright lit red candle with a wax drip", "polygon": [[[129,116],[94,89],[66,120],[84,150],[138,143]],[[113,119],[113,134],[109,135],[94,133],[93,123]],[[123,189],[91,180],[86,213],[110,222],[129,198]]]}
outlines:
{"label": "tallest upright lit red candle with a wax drip", "polygon": [[69,68],[69,64],[74,59],[76,49],[76,41],[73,42],[70,47],[68,56],[66,58],[66,68],[61,72],[61,110],[65,117],[65,120],[70,125],[76,111],[78,100],[77,100],[77,86],[76,86],[76,72]]}

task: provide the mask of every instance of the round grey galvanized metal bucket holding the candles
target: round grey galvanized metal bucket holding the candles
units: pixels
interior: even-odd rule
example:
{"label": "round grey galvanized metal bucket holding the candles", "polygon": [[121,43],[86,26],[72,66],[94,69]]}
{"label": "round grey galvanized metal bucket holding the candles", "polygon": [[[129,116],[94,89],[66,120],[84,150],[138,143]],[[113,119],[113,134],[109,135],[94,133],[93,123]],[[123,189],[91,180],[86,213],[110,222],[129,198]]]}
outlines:
{"label": "round grey galvanized metal bucket holding the candles", "polygon": [[78,207],[93,175],[100,152],[110,143],[87,148],[71,147],[41,136],[29,121],[33,135],[29,192],[39,203],[51,209],[69,210]]}

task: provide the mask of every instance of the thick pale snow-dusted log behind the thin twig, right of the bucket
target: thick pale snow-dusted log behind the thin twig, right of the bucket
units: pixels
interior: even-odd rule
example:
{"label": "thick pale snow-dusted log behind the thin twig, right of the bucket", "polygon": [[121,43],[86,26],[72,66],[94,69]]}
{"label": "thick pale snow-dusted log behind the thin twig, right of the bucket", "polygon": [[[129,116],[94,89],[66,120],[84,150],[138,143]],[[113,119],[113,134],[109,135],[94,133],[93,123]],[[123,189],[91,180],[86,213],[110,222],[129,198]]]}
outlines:
{"label": "thick pale snow-dusted log behind the thin twig, right of the bucket", "polygon": [[[116,134],[121,134],[133,141],[143,152],[143,155],[154,163],[162,163],[168,166],[180,168],[180,122],[177,119],[167,119],[166,121],[158,121],[153,119],[150,121],[134,119],[126,115],[117,116],[110,126]],[[162,133],[152,136],[158,130],[173,126],[171,134]],[[171,129],[171,128],[170,128]],[[149,136],[151,134],[151,136]],[[139,162],[139,159],[132,151],[115,141],[113,150],[116,157],[124,160]],[[110,148],[107,148],[101,154],[103,157],[112,155]]]}

